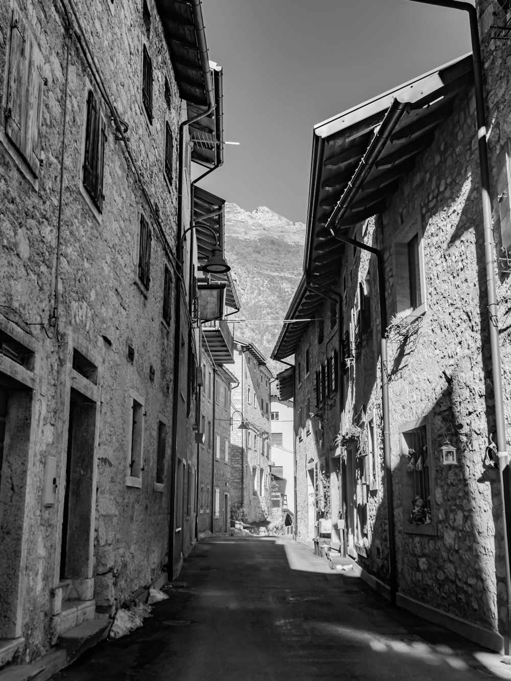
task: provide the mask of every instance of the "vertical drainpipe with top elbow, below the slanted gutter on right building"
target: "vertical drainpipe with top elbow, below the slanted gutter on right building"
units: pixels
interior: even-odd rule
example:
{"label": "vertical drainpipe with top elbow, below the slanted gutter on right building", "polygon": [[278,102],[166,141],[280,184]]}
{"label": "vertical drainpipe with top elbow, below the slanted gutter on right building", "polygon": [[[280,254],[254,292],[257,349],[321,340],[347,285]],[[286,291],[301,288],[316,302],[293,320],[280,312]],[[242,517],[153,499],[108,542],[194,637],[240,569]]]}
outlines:
{"label": "vertical drainpipe with top elbow, below the slanted gutter on right building", "polygon": [[348,236],[336,234],[335,238],[346,244],[352,244],[362,251],[373,253],[377,259],[378,287],[380,289],[380,366],[382,370],[382,412],[384,421],[384,460],[385,460],[385,487],[387,492],[387,524],[388,524],[388,557],[390,573],[390,603],[396,605],[397,592],[397,569],[396,569],[396,545],[394,530],[394,494],[392,490],[392,453],[390,452],[390,411],[388,401],[388,357],[387,357],[387,304],[385,299],[385,268],[382,251],[367,246],[365,243],[356,241]]}

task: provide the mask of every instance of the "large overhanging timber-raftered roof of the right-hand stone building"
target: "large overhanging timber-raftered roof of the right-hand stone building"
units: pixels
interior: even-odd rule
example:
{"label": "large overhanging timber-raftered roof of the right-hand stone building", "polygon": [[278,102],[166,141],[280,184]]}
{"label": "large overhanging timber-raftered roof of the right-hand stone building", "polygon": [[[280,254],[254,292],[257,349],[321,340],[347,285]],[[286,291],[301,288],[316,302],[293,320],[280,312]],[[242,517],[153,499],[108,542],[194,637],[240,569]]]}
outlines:
{"label": "large overhanging timber-raftered roof of the right-hand stone building", "polygon": [[435,129],[452,112],[456,97],[474,81],[471,54],[415,78],[364,104],[315,125],[311,183],[307,210],[303,277],[285,315],[296,323],[285,324],[272,352],[275,360],[292,355],[308,321],[324,304],[324,297],[308,282],[334,289],[344,244],[326,223],[365,156],[375,132],[394,100],[409,104],[388,142],[377,157],[354,201],[343,212],[335,229],[350,229],[356,223],[384,212],[390,197],[414,168],[417,157],[433,141]]}

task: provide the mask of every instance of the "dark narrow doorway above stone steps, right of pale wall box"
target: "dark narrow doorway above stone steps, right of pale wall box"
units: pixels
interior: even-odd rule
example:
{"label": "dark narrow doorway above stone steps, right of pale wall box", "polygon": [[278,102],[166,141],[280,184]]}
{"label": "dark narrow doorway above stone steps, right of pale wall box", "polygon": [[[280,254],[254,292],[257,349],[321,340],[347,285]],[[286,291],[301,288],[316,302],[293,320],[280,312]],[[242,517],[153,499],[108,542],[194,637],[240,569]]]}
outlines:
{"label": "dark narrow doorway above stone steps, right of pale wall box", "polygon": [[[61,580],[81,582],[92,578],[96,411],[95,402],[75,390],[71,391],[61,533]],[[76,590],[81,591],[80,588]]]}

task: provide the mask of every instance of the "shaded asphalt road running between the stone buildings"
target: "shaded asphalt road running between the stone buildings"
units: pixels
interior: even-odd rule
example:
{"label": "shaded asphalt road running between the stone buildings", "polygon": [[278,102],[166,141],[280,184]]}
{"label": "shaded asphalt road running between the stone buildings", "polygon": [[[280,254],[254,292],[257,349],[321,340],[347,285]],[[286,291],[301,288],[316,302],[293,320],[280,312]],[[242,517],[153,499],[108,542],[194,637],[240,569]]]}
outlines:
{"label": "shaded asphalt road running between the stone buildings", "polygon": [[496,654],[392,608],[289,540],[211,537],[144,627],[55,681],[511,679]]}

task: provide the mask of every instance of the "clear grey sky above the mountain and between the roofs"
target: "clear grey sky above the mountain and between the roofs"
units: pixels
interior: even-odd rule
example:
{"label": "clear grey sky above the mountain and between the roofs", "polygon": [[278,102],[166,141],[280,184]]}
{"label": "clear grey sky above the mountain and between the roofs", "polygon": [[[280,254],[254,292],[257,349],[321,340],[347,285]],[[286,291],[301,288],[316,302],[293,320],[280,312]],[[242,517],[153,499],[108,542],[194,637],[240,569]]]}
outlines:
{"label": "clear grey sky above the mountain and between the roofs", "polygon": [[224,165],[204,189],[307,216],[313,125],[470,51],[466,12],[410,0],[202,0],[223,67]]}

